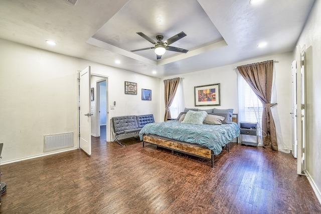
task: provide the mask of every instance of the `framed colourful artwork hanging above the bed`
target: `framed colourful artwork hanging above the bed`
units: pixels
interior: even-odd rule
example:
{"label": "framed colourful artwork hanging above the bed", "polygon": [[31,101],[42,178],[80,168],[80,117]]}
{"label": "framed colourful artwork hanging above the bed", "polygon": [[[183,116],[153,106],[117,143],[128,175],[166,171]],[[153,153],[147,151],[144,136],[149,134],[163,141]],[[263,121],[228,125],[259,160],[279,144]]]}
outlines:
{"label": "framed colourful artwork hanging above the bed", "polygon": [[194,87],[195,106],[221,105],[220,83]]}

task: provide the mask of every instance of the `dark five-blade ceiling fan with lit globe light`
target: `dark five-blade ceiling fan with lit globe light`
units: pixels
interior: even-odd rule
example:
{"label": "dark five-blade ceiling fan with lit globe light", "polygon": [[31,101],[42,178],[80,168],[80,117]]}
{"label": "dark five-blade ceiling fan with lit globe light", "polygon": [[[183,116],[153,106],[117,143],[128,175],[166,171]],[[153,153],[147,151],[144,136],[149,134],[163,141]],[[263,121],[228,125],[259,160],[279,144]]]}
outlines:
{"label": "dark five-blade ceiling fan with lit globe light", "polygon": [[166,50],[180,52],[180,53],[187,53],[189,51],[189,50],[186,50],[186,49],[183,49],[183,48],[177,48],[177,47],[169,46],[172,43],[175,43],[176,41],[178,41],[178,40],[182,39],[183,37],[187,36],[183,31],[181,33],[171,37],[170,39],[167,39],[166,41],[162,41],[164,39],[164,36],[162,36],[162,35],[157,35],[156,36],[156,40],[157,41],[155,41],[155,40],[151,39],[150,37],[146,36],[145,34],[143,34],[141,32],[137,32],[136,34],[138,34],[139,36],[141,36],[142,38],[144,38],[145,40],[147,40],[148,42],[152,43],[155,46],[154,47],[149,47],[149,48],[136,49],[136,50],[132,50],[131,52],[154,49],[155,54],[156,54],[156,58],[157,58],[157,60],[159,60],[159,59],[162,58],[162,55],[165,54]]}

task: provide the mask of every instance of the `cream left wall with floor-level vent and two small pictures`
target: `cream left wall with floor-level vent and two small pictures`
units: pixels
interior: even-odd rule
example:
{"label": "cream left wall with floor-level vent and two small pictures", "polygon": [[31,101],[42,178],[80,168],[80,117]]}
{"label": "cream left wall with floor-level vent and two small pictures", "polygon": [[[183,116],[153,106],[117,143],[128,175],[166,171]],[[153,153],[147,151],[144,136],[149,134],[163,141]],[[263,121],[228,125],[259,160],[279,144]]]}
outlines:
{"label": "cream left wall with floor-level vent and two small pictures", "polygon": [[[45,155],[44,135],[74,133],[78,146],[77,70],[108,76],[109,118],[154,114],[159,100],[141,100],[141,88],[159,96],[159,79],[0,40],[0,142],[2,163]],[[124,81],[136,82],[137,95],[124,94]]]}

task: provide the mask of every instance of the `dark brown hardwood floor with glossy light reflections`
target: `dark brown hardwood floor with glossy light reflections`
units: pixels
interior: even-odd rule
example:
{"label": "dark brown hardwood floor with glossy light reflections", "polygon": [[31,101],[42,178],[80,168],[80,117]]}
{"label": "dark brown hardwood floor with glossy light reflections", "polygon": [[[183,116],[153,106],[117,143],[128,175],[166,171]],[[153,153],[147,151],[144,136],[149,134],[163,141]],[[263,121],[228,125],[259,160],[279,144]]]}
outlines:
{"label": "dark brown hardwood floor with glossy light reflections", "polygon": [[214,168],[151,144],[93,137],[91,157],[73,150],[1,170],[1,213],[321,213],[291,154],[236,143]]}

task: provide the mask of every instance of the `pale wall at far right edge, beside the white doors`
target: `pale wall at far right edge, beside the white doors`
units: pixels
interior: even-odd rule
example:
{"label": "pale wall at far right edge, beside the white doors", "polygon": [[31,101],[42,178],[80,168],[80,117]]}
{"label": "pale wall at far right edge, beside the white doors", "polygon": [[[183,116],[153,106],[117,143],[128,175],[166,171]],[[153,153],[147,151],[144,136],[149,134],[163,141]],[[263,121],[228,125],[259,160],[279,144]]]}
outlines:
{"label": "pale wall at far right edge, beside the white doors", "polygon": [[306,171],[321,202],[321,1],[315,1],[297,45],[306,49]]}

